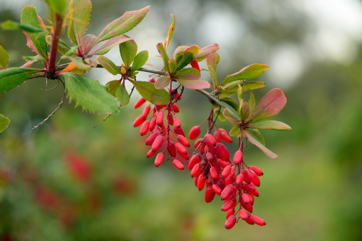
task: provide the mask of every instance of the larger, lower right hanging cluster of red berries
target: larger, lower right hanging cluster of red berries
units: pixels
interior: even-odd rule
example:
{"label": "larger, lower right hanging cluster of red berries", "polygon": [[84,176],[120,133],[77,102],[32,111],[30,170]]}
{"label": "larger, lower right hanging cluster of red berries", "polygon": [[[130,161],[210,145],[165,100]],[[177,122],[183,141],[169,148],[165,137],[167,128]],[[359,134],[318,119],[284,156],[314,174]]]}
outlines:
{"label": "larger, lower right hanging cluster of red berries", "polygon": [[[235,213],[248,224],[265,225],[264,220],[251,215],[254,197],[259,196],[257,190],[257,186],[260,186],[259,176],[263,175],[263,172],[255,166],[247,166],[244,163],[242,141],[231,161],[230,153],[221,140],[231,143],[232,139],[224,129],[217,129],[216,126],[215,129],[214,135],[207,133],[195,141],[198,153],[194,154],[188,163],[195,186],[201,191],[206,185],[206,202],[211,202],[215,194],[224,201],[221,210],[227,212],[226,229],[235,225],[237,221]],[[194,126],[190,130],[189,138],[196,139],[200,133],[200,126]]]}

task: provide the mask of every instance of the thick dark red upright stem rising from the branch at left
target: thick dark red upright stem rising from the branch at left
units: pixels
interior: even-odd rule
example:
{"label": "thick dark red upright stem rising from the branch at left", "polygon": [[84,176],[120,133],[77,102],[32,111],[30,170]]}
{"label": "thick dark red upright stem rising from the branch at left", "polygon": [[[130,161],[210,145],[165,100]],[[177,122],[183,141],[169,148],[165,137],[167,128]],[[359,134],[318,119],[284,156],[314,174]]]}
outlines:
{"label": "thick dark red upright stem rising from the branch at left", "polygon": [[47,66],[47,76],[49,78],[54,77],[55,68],[56,68],[56,52],[58,51],[58,42],[60,36],[60,30],[62,30],[63,19],[58,14],[54,15],[54,28],[50,45],[50,57],[49,57],[49,65]]}

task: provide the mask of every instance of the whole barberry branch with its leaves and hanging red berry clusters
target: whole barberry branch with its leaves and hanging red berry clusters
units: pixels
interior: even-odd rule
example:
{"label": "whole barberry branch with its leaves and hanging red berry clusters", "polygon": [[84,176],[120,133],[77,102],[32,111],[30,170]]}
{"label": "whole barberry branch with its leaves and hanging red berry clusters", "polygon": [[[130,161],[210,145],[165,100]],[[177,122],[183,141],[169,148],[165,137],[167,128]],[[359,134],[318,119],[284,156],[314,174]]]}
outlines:
{"label": "whole barberry branch with its leaves and hanging red berry clusters", "polygon": [[[146,145],[151,149],[147,157],[151,158],[157,153],[156,167],[165,159],[172,160],[178,169],[183,170],[184,165],[180,162],[180,158],[189,159],[186,148],[190,146],[190,143],[181,128],[180,119],[176,117],[179,111],[176,102],[180,100],[184,87],[198,91],[212,103],[212,110],[209,117],[201,125],[194,126],[189,133],[190,139],[196,139],[194,143],[196,150],[188,162],[195,185],[199,190],[203,190],[206,186],[206,202],[211,202],[215,194],[220,195],[224,201],[221,210],[226,212],[227,217],[225,228],[232,228],[239,219],[245,220],[248,224],[265,225],[264,220],[251,215],[255,197],[259,195],[257,190],[260,185],[259,177],[263,173],[259,168],[245,164],[243,149],[246,141],[249,141],[267,156],[275,159],[277,155],[265,147],[260,130],[291,129],[289,125],[282,122],[264,120],[276,115],[285,106],[286,98],[280,89],[267,92],[258,104],[251,91],[265,86],[265,83],[261,81],[249,80],[261,76],[269,66],[264,64],[246,66],[239,72],[226,76],[219,85],[216,74],[216,67],[220,60],[217,43],[203,48],[197,45],[178,46],[173,56],[169,57],[167,48],[175,25],[175,18],[171,14],[173,22],[169,27],[165,42],[156,44],[163,61],[162,70],[143,68],[148,60],[148,51],[143,50],[137,53],[138,47],[135,40],[122,34],[127,33],[143,20],[150,9],[149,6],[126,12],[109,23],[96,36],[85,35],[92,9],[92,3],[89,0],[46,1],[46,4],[50,9],[49,16],[53,20],[50,26],[51,31],[47,30],[42,18],[36,14],[35,8],[29,5],[22,10],[21,23],[10,21],[10,24],[7,22],[2,25],[5,29],[22,29],[26,35],[27,46],[37,55],[30,56],[29,61],[19,68],[7,68],[9,57],[0,46],[0,95],[27,79],[37,77],[45,77],[46,83],[48,79],[56,80],[58,83],[60,81],[64,87],[63,97],[58,107],[32,130],[54,115],[62,106],[66,92],[70,101],[76,102],[77,106],[81,106],[86,111],[110,113],[104,119],[106,120],[112,113],[117,113],[121,106],[129,104],[130,96],[135,89],[142,96],[136,102],[135,108],[141,107],[146,101],[150,102],[144,106],[142,114],[134,121],[135,127],[140,126],[141,135],[149,133]],[[81,9],[81,11],[75,11],[75,9]],[[68,46],[59,38],[63,23],[68,26],[68,36],[74,43],[73,47]],[[93,50],[98,43],[103,41],[106,42]],[[117,66],[104,56],[114,46],[119,47],[123,62],[121,66]],[[58,52],[62,54],[60,59],[68,59],[70,63],[58,65],[56,62],[56,59],[59,59]],[[96,60],[92,59],[94,55],[98,55]],[[203,60],[206,60],[207,68],[200,68],[198,63]],[[30,68],[36,61],[43,62],[45,68]],[[104,68],[114,76],[120,74],[122,77],[111,80],[103,86],[98,81],[83,76],[92,67]],[[158,78],[137,81],[136,75],[140,71],[158,74]],[[201,71],[210,74],[211,85],[208,81],[200,79]],[[126,90],[126,81],[133,85],[130,93]],[[179,86],[172,89],[175,83]],[[178,91],[180,87],[181,92]],[[212,89],[212,92],[202,89]],[[248,101],[243,99],[244,91],[250,93]],[[228,104],[231,109],[225,104]],[[218,118],[222,121],[230,121],[233,127],[229,132],[217,128],[215,122]],[[4,123],[0,126],[0,132],[2,132],[10,121],[0,115],[0,122]],[[208,123],[206,134],[203,138],[197,139],[201,134],[201,126],[206,122]],[[213,129],[214,133],[211,134]],[[228,148],[222,143],[222,141],[231,143],[231,137],[239,139],[239,148],[235,151],[232,160]],[[175,159],[177,155],[180,158]]]}

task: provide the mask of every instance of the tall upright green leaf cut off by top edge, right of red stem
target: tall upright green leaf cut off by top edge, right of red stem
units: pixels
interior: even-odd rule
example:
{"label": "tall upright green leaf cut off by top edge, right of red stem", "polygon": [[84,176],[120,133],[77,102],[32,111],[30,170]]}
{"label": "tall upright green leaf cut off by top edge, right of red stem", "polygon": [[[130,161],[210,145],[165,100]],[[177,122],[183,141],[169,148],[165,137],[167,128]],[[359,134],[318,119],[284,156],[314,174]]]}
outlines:
{"label": "tall upright green leaf cut off by top edge, right of red stem", "polygon": [[[73,12],[73,16],[72,20],[68,23],[68,35],[72,35],[70,39],[73,43],[83,44],[82,38],[88,26],[92,3],[89,0],[73,0],[70,9]],[[84,48],[83,51],[85,51]]]}

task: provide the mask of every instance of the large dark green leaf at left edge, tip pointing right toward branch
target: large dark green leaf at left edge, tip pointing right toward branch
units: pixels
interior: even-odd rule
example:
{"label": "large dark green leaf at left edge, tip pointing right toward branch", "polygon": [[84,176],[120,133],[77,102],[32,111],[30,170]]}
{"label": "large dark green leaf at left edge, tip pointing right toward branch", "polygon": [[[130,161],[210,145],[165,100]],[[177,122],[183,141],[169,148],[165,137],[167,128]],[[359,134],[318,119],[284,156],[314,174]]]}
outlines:
{"label": "large dark green leaf at left edge, tip pointing right toward branch", "polygon": [[39,70],[31,68],[8,68],[0,70],[0,94],[20,85],[36,72],[39,72]]}

